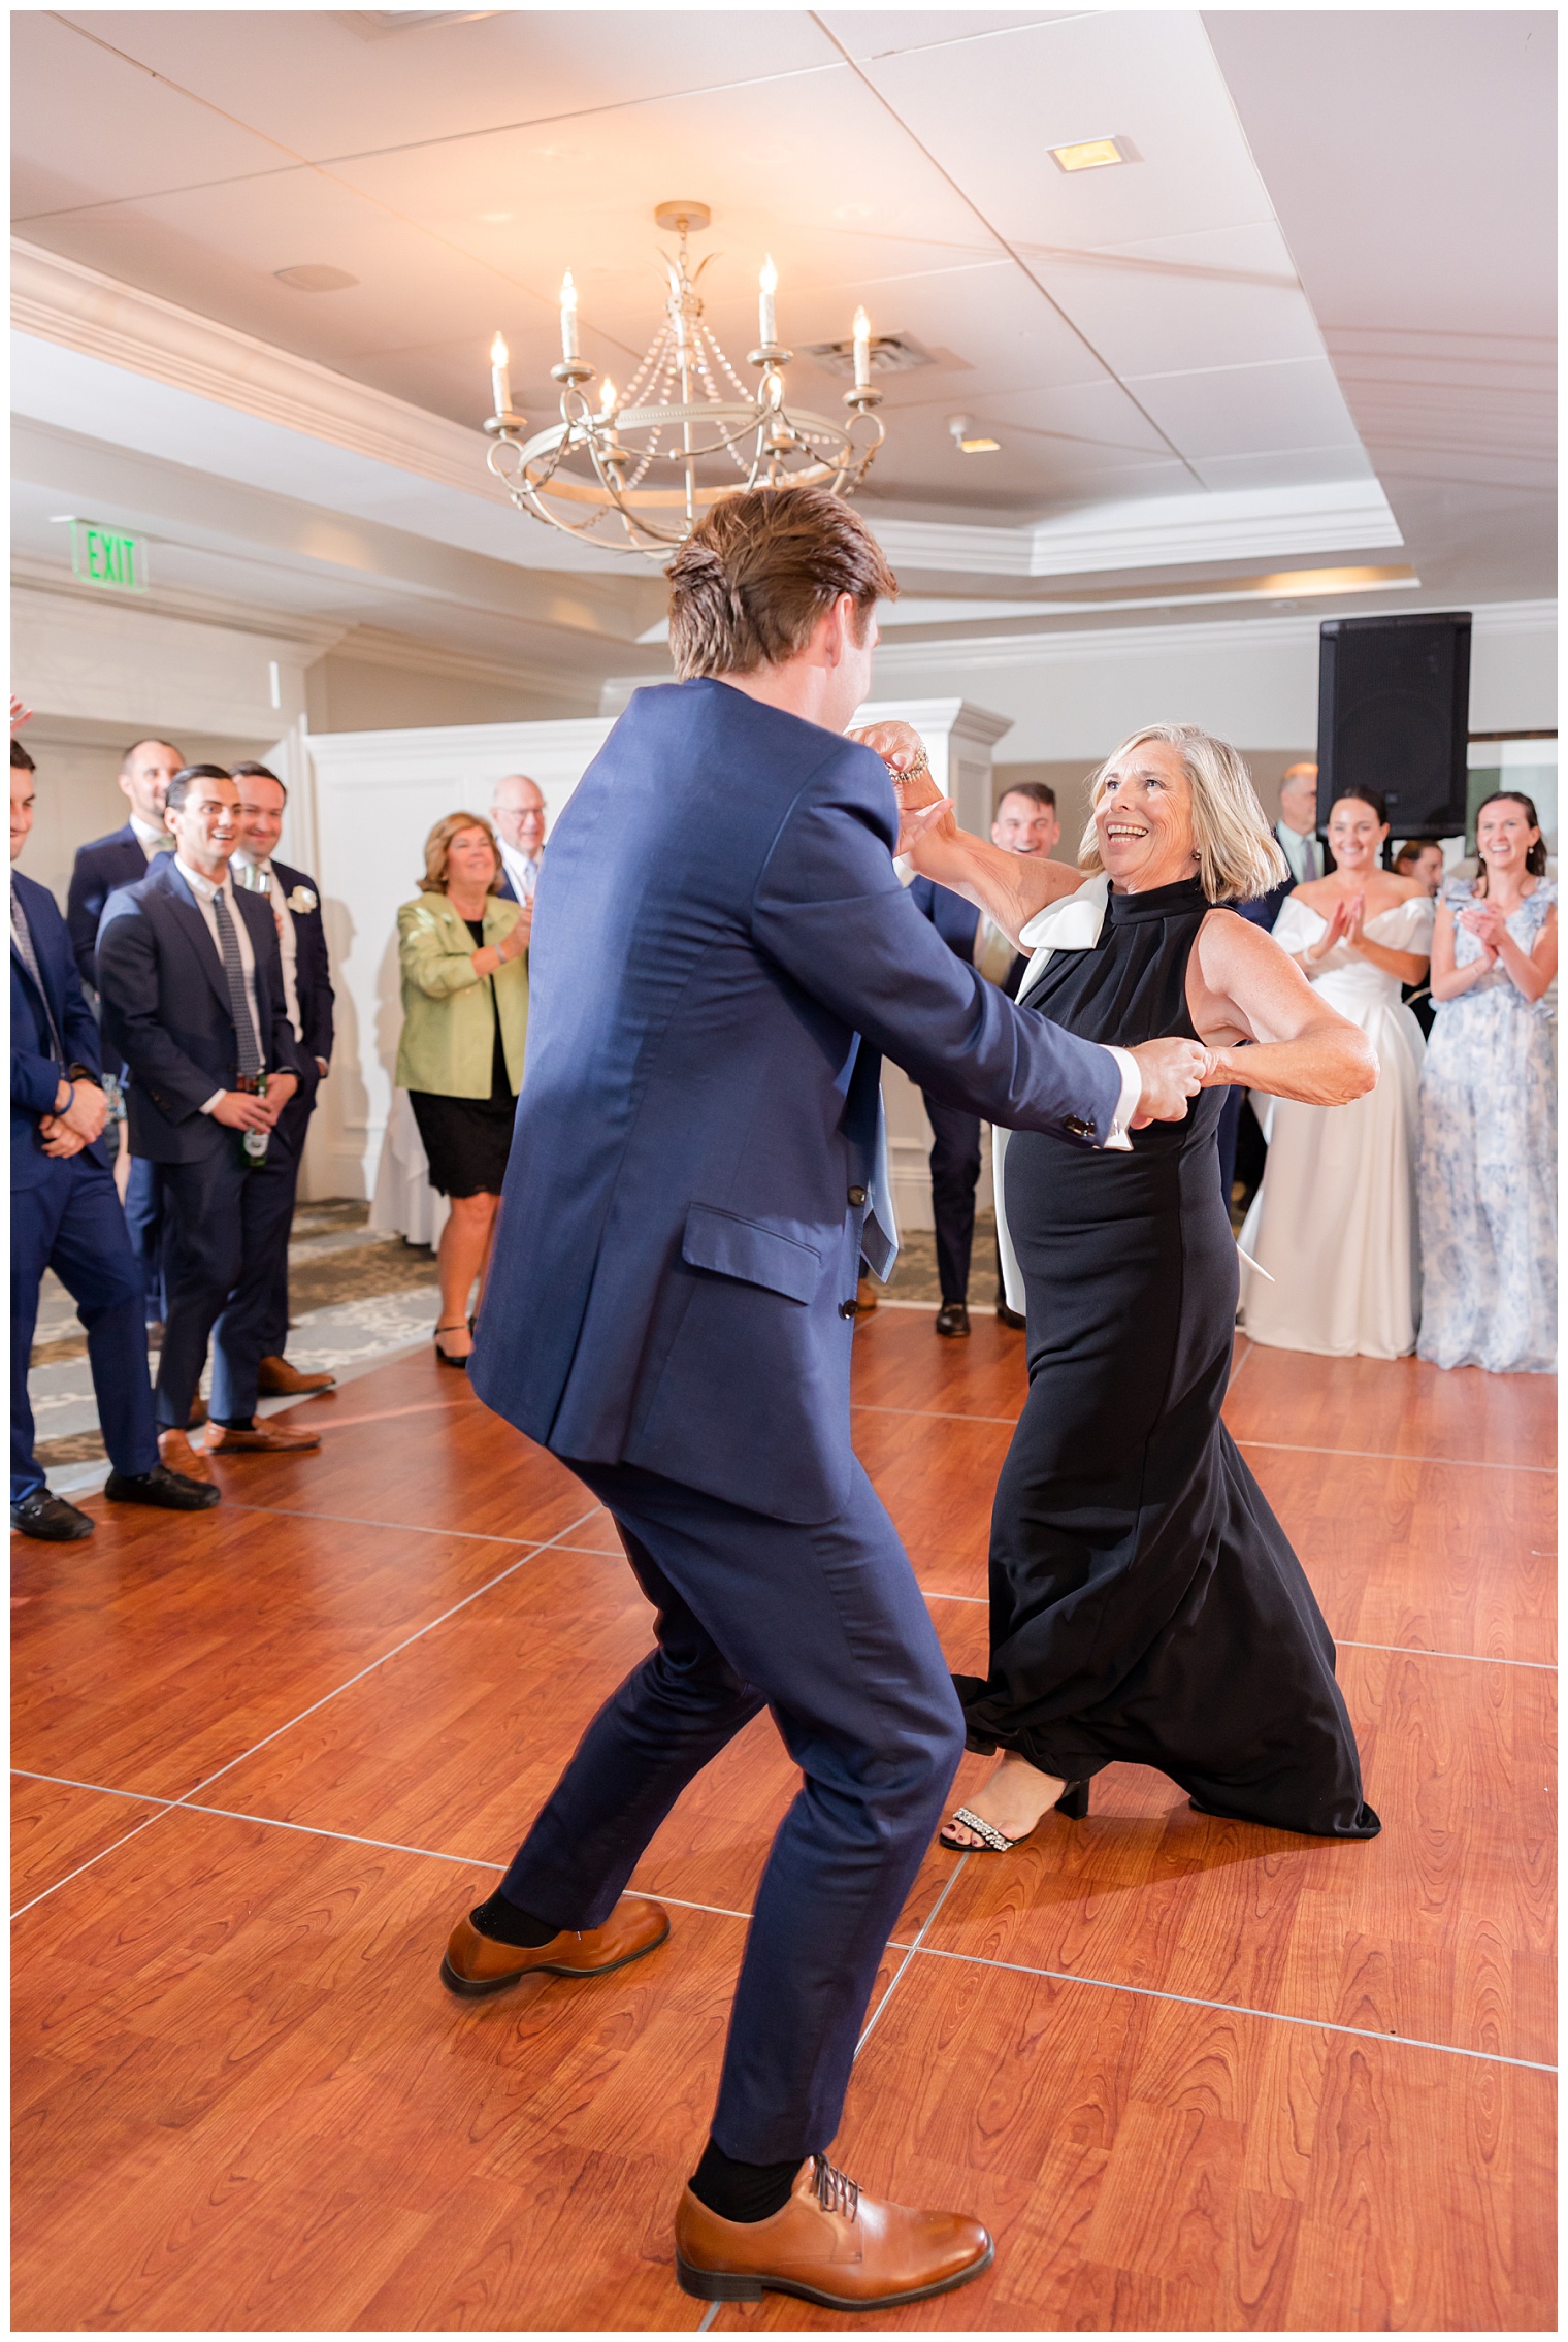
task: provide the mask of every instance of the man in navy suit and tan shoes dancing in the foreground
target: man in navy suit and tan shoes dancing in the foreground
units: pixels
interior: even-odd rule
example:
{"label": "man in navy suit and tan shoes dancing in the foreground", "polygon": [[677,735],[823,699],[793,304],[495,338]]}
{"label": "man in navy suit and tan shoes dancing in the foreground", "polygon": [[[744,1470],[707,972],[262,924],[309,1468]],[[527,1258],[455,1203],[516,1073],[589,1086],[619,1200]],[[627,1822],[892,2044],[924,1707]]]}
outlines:
{"label": "man in navy suit and tan shoes dancing in the foreground", "polygon": [[875,600],[896,593],[847,504],[725,499],[669,576],[686,679],[634,693],[550,845],[470,1361],[480,1398],[611,1511],[658,1646],[442,1977],[480,1995],[653,1951],[669,1923],[627,1878],[768,1707],[805,1778],[756,1895],[676,2269],[709,2300],[805,2283],[885,2307],[978,2274],[990,2239],[873,2204],[821,2152],[962,1747],[850,1443],[857,1265],[892,1265],[880,1054],[955,1105],[1086,1145],[1180,1119],[1208,1059],[1020,1016],[908,902],[889,768],[843,738]]}

